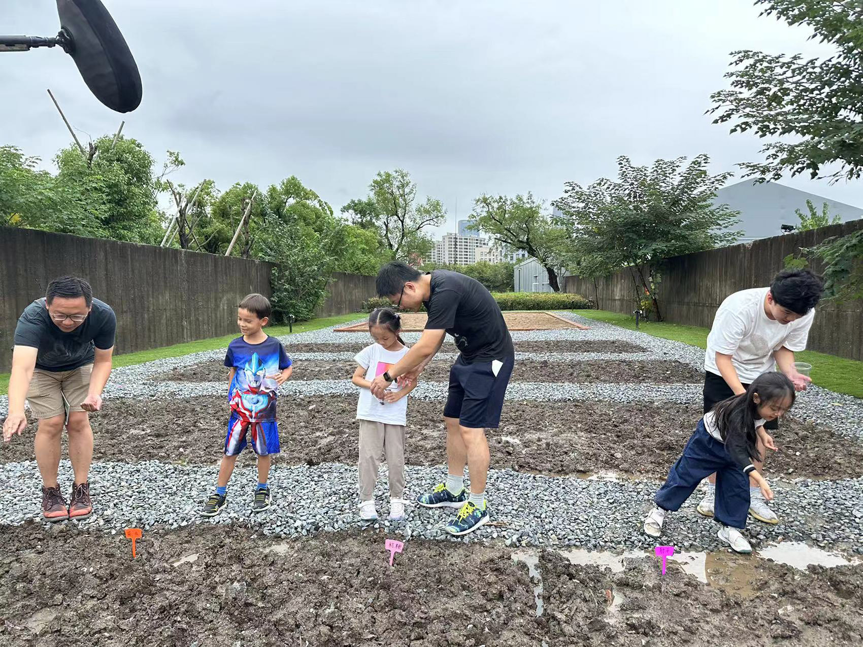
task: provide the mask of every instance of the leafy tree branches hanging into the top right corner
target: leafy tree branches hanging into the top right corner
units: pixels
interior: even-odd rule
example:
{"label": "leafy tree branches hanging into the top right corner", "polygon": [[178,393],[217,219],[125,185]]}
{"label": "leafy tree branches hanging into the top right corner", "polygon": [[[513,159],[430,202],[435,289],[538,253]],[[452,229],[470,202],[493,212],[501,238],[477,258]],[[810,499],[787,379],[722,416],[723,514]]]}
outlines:
{"label": "leafy tree branches hanging into the top right corner", "polygon": [[[863,7],[837,0],[755,0],[762,16],[776,16],[790,25],[806,25],[812,38],[834,45],[828,59],[803,54],[732,52],[726,73],[731,87],[711,95],[714,123],[734,122],[732,133],[753,130],[770,137],[763,162],[741,164],[744,177],[778,180],[837,164],[826,177],[860,178],[863,170]],[[785,139],[787,138],[787,139]],[[790,141],[789,141],[790,140]]]}

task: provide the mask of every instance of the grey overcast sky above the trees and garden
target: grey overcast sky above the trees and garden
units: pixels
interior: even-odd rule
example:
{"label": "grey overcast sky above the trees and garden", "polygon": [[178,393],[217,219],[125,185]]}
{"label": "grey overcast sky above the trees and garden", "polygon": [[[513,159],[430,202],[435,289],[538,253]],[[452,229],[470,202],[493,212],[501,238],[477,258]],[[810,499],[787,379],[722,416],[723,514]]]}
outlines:
{"label": "grey overcast sky above the trees and garden", "polygon": [[[59,49],[0,53],[0,143],[41,156],[69,142],[50,87],[85,140],[117,129],[187,184],[261,188],[289,175],[338,209],[380,170],[468,217],[483,192],[615,175],[615,158],[760,160],[760,141],[703,113],[728,53],[829,53],[751,0],[105,0],[135,55],[143,100],[99,104]],[[53,35],[54,0],[3,0],[0,31]],[[731,180],[736,181],[736,180]],[[863,206],[863,184],[785,179]],[[443,228],[442,228],[443,229]]]}

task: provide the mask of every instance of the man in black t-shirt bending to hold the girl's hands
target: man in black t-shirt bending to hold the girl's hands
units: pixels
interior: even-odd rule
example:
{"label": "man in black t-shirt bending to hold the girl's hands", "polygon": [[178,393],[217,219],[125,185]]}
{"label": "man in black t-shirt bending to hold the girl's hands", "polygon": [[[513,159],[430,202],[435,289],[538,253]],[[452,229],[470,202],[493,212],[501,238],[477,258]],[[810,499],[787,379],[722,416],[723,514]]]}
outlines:
{"label": "man in black t-shirt bending to hold the girl's hands", "polygon": [[[449,474],[444,483],[420,496],[417,502],[425,507],[457,508],[459,512],[446,531],[465,535],[488,522],[485,485],[489,455],[485,430],[496,429],[501,420],[515,360],[513,338],[491,293],[464,274],[447,270],[424,274],[394,261],[381,267],[376,287],[381,297],[397,307],[418,311],[425,305],[428,323],[419,342],[372,382],[375,396],[382,398],[396,378],[416,380],[447,333],[461,351],[450,368],[450,389],[444,406]],[[465,464],[470,475],[469,495],[463,483]]]}

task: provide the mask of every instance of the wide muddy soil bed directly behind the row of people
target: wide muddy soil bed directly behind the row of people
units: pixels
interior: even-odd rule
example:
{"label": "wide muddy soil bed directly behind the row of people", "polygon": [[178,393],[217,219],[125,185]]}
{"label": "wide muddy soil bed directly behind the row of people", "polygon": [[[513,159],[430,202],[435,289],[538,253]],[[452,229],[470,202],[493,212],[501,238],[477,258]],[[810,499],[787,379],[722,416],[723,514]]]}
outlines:
{"label": "wide muddy soil bed directly behind the row of people", "polygon": [[[356,399],[282,397],[278,411],[277,462],[356,463]],[[413,400],[407,411],[407,464],[442,464],[443,403]],[[491,464],[547,475],[613,470],[665,478],[700,417],[700,405],[507,402],[500,429],[488,432]],[[212,465],[221,455],[228,405],[218,397],[108,399],[91,420],[96,461]],[[24,437],[0,443],[0,462],[32,460],[33,430],[28,426]],[[863,475],[861,443],[793,418],[784,420],[774,437],[780,451],[766,463],[773,478]],[[241,455],[241,465],[254,461],[251,452]]]}

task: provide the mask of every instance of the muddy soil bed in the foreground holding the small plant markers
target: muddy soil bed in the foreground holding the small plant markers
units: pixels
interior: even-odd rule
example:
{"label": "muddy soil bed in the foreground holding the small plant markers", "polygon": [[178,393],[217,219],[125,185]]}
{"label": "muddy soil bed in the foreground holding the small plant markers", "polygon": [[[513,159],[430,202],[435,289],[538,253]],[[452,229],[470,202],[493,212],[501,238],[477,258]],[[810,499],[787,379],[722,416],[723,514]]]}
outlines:
{"label": "muddy soil bed in the foreground holding the small plant markers", "polygon": [[863,565],[759,562],[743,600],[654,559],[617,574],[539,554],[537,580],[501,547],[382,534],[256,537],[148,531],[137,543],[68,526],[0,527],[0,645],[859,645]]}

